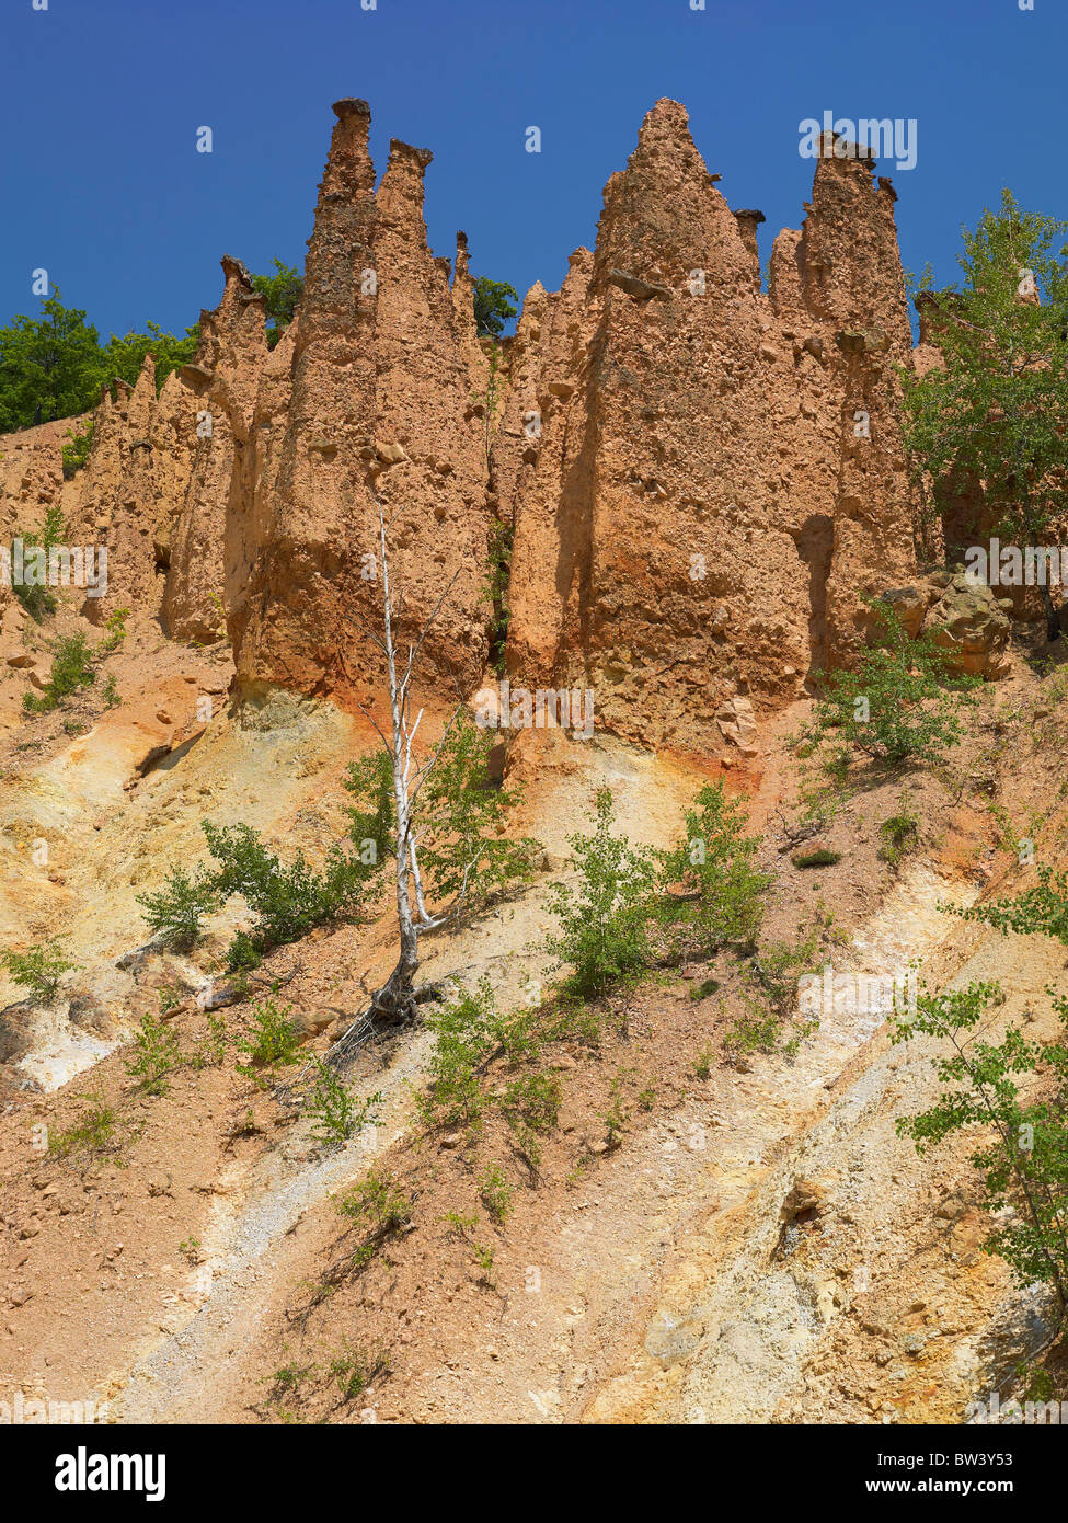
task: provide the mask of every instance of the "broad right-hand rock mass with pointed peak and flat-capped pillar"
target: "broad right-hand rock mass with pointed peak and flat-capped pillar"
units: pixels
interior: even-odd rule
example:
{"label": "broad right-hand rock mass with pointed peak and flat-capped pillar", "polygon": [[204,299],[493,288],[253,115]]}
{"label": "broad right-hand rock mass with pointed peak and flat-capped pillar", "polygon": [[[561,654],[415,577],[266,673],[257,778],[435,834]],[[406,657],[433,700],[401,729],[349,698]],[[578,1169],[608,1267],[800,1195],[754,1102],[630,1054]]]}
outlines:
{"label": "broad right-hand rock mass with pointed peak and flat-capped pillar", "polygon": [[[759,219],[728,210],[661,101],[593,260],[558,297],[535,286],[516,335],[509,669],[590,682],[600,723],[654,745],[707,751],[724,702],[798,696],[864,640],[862,595],[913,568],[893,190],[821,158],[766,295]],[[516,429],[532,411],[539,439]]]}

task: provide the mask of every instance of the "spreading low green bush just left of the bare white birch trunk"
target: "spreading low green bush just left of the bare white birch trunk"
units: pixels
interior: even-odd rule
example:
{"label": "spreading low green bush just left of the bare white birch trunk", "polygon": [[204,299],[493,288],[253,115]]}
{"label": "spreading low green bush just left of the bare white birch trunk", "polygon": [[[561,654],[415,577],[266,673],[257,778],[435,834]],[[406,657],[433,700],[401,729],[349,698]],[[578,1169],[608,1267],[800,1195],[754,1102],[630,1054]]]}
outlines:
{"label": "spreading low green bush just left of the bare white birch trunk", "polygon": [[235,938],[230,966],[247,966],[248,947],[264,953],[306,935],[337,915],[355,914],[363,902],[369,870],[338,845],[331,845],[321,873],[297,853],[288,867],[268,851],[251,825],[213,825],[203,821],[207,850],[219,864],[206,880],[219,899],[241,894],[254,912],[248,935]]}

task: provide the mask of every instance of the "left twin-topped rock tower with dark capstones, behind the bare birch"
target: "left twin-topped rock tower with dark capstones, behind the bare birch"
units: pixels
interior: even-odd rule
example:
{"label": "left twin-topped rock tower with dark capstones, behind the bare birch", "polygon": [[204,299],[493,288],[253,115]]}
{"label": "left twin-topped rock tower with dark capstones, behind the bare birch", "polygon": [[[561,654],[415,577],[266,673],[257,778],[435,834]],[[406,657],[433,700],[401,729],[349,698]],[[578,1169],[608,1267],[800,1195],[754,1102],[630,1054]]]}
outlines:
{"label": "left twin-topped rock tower with dark capstones, behind the bare birch", "polygon": [[[340,101],[308,245],[277,460],[236,513],[229,588],[238,679],[369,696],[381,626],[378,510],[393,521],[401,640],[451,588],[425,672],[462,691],[488,652],[489,512],[472,404],[474,315],[427,247],[425,149],[396,139],[375,192],[370,113]],[[268,385],[277,396],[279,378]],[[270,408],[270,404],[267,404]],[[262,410],[262,408],[261,408]],[[277,414],[276,414],[277,416]],[[238,586],[238,573],[247,579]]]}

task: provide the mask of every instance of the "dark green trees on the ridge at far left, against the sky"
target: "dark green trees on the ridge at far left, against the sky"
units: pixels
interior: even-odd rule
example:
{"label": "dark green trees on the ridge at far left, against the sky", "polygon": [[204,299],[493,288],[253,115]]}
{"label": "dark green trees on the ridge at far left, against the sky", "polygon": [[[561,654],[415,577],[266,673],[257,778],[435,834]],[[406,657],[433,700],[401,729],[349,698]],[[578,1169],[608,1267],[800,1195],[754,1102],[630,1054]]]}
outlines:
{"label": "dark green trees on the ridge at far left, against the sky", "polygon": [[[40,317],[21,315],[0,326],[0,433],[30,428],[38,414],[40,422],[50,422],[87,413],[113,378],[134,385],[148,353],[155,356],[158,388],[193,358],[197,340],[197,327],[175,338],[149,323],[146,334],[113,334],[102,344],[85,312],[66,308],[56,289],[41,303]],[[78,442],[69,448],[84,451]]]}

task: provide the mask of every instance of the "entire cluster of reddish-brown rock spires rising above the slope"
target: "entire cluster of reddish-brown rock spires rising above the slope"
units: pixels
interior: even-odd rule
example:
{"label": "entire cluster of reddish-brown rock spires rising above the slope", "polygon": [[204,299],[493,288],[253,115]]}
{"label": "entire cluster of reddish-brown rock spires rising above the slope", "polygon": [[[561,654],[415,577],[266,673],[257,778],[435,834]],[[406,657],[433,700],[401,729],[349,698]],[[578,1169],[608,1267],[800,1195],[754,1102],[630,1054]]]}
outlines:
{"label": "entire cluster of reddish-brown rock spires rising above the slope", "polygon": [[597,726],[654,746],[751,749],[756,720],[855,656],[865,599],[916,577],[890,181],[829,139],[765,291],[763,215],[730,210],[686,110],[660,101],[596,248],[558,292],[532,288],[491,381],[466,238],[451,285],[427,245],[431,154],[395,139],[375,189],[366,102],[334,111],[277,347],[224,257],[195,362],[157,399],[149,359],[98,408],[75,518],[108,544],[110,591],[87,612],[198,641],[225,615],[242,693],[366,702],[381,507],[401,640],[448,589],[422,658],[451,701],[486,675],[503,530],[513,687],[590,687]]}

